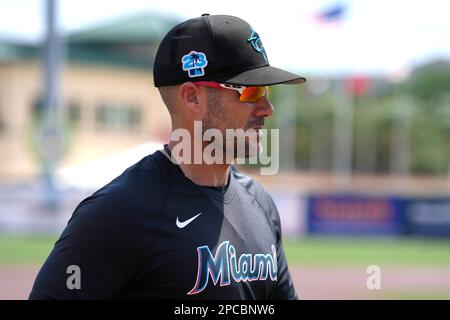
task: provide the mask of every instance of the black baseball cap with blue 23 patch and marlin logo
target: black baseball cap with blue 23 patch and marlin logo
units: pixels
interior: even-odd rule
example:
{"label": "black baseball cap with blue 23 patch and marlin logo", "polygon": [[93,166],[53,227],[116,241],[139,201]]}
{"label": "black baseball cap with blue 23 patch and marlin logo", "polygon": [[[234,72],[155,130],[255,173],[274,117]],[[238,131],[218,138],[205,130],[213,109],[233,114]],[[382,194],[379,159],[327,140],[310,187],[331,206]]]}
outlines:
{"label": "black baseball cap with blue 23 patch and marlin logo", "polygon": [[244,86],[298,84],[304,77],[269,65],[258,33],[244,20],[203,14],[176,25],[153,66],[156,87],[215,81]]}

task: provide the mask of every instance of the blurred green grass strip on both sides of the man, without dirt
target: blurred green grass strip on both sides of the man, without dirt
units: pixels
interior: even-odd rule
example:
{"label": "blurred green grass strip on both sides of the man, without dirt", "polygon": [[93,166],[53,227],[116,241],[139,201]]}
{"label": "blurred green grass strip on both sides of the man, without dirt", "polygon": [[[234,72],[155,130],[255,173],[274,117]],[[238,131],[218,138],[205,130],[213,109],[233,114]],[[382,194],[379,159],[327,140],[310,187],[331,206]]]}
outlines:
{"label": "blurred green grass strip on both sides of the man, without dirt", "polygon": [[[57,236],[0,236],[0,265],[39,265]],[[303,238],[284,242],[292,265],[449,266],[450,239]]]}

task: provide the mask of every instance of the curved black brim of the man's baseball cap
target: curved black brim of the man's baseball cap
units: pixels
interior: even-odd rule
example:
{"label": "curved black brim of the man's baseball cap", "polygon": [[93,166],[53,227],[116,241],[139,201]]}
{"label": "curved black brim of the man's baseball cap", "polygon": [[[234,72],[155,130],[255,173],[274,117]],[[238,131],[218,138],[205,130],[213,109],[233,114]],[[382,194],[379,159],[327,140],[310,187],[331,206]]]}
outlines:
{"label": "curved black brim of the man's baseball cap", "polygon": [[230,75],[219,79],[219,82],[241,86],[268,86],[275,84],[300,84],[306,79],[294,73],[271,66],[264,66]]}

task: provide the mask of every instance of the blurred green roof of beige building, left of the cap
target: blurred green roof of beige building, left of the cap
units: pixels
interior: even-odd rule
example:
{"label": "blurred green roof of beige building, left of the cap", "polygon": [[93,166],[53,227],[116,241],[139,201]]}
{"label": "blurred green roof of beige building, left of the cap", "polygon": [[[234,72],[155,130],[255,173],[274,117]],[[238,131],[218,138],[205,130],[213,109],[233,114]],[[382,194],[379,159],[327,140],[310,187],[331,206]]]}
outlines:
{"label": "blurred green roof of beige building, left of the cap", "polygon": [[[64,37],[71,62],[151,68],[157,46],[179,21],[164,15],[142,13],[103,22]],[[0,63],[38,59],[41,47],[0,40]]]}

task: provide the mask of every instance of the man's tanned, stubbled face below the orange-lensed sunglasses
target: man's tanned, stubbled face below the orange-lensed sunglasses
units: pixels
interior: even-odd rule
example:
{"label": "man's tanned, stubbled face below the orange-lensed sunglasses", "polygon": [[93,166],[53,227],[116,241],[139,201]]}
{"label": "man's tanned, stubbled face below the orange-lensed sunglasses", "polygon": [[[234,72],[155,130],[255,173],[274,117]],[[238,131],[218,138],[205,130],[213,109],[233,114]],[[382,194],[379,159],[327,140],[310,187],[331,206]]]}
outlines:
{"label": "man's tanned, stubbled face below the orange-lensed sunglasses", "polygon": [[[248,158],[261,152],[260,129],[264,127],[265,118],[273,114],[273,106],[267,97],[256,102],[241,102],[239,92],[235,90],[207,88],[207,93],[208,111],[203,119],[203,130],[214,128],[222,132],[224,153],[232,152],[233,158]],[[227,131],[237,138],[230,135],[227,139]],[[245,144],[240,145],[239,139]]]}

